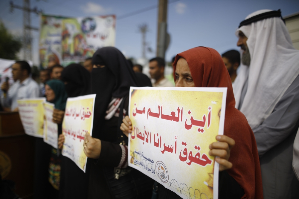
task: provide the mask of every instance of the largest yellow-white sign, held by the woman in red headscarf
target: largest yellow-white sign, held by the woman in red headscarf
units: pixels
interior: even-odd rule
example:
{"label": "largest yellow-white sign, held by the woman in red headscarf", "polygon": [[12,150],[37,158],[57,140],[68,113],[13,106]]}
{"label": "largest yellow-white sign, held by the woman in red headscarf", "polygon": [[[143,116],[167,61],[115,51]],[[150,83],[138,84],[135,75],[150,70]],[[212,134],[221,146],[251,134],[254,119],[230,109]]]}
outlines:
{"label": "largest yellow-white sign, held by the woman in red headscarf", "polygon": [[226,92],[131,87],[129,166],[181,198],[218,198],[219,164],[209,145],[223,134]]}

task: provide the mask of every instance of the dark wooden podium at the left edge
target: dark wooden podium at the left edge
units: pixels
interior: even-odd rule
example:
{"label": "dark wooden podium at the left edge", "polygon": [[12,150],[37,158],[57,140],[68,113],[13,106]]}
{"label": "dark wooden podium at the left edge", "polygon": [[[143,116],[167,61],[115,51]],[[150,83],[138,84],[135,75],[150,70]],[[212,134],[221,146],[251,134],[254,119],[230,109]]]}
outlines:
{"label": "dark wooden podium at the left edge", "polygon": [[16,183],[15,192],[23,199],[33,198],[34,146],[35,137],[25,134],[19,113],[1,111],[0,172],[3,180]]}

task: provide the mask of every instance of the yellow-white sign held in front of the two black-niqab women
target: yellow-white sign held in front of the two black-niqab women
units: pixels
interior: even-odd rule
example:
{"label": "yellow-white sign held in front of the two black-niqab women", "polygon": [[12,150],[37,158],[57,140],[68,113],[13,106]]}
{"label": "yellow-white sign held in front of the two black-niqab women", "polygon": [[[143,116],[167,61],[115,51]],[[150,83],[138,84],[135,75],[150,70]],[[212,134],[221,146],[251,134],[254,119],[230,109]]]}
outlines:
{"label": "yellow-white sign held in front of the two black-niqab women", "polygon": [[94,117],[95,94],[68,98],[62,122],[64,143],[62,155],[70,158],[84,172],[87,157],[84,153],[84,136],[91,135]]}

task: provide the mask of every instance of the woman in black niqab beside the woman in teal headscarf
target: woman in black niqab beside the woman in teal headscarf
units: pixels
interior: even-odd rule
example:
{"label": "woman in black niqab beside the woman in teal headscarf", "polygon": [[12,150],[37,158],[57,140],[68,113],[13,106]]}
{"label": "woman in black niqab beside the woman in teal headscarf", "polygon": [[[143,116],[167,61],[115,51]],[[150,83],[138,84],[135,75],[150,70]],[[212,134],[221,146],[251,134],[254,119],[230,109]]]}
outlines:
{"label": "woman in black niqab beside the woman in teal headscarf", "polygon": [[[61,73],[68,97],[90,94],[90,73],[80,64],[70,64]],[[63,134],[62,134],[63,135]],[[87,198],[88,173],[62,156],[59,198]]]}

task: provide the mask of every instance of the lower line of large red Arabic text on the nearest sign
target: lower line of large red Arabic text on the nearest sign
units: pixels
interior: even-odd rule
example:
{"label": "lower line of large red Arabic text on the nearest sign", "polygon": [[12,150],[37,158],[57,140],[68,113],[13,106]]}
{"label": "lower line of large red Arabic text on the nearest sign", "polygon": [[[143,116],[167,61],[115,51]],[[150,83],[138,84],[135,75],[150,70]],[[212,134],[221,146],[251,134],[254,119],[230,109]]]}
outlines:
{"label": "lower line of large red Arabic text on the nearest sign", "polygon": [[[142,140],[143,141],[143,144],[144,142],[146,143],[149,143],[151,144],[151,133],[144,130],[144,133],[142,134],[141,132],[139,132],[139,129],[135,126],[133,126],[133,132],[131,134],[131,139],[134,140],[135,137],[137,137],[138,139]],[[175,137],[175,140],[177,139],[177,137]],[[187,143],[185,143],[184,141],[181,143],[183,146],[187,146]],[[161,149],[161,146],[162,146],[162,136],[158,133],[154,134],[154,146],[155,147],[158,147]],[[196,150],[200,150],[200,147],[199,146],[194,146],[194,148]],[[174,154],[176,154],[176,141],[174,143],[174,145],[168,145],[166,146],[165,143],[163,144],[163,150],[160,150],[162,154],[166,152],[169,152],[169,153],[173,153],[173,149],[174,149]],[[182,152],[182,150],[181,150]],[[183,151],[183,155],[181,155],[181,152],[180,152],[180,160],[182,162],[185,162],[186,160],[189,160],[189,162],[186,162],[187,165],[191,165],[192,162],[196,163],[196,164],[199,164],[201,166],[206,166],[207,164],[211,164],[212,163],[212,160],[210,160],[208,158],[208,156],[206,154],[202,154],[202,156],[200,155],[199,152],[197,152],[195,154],[195,156],[193,157],[193,154],[192,154],[192,151],[189,152],[189,155],[188,155],[188,151],[187,151],[187,148],[184,149]]]}

